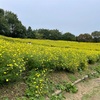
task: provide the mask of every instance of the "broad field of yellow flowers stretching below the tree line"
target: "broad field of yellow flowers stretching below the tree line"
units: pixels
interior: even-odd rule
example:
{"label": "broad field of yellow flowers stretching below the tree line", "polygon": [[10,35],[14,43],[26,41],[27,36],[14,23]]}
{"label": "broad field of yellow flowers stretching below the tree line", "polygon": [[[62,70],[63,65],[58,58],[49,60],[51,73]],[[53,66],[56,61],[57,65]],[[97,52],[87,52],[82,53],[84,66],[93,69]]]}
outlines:
{"label": "broad field of yellow flowers stretching below the tree line", "polygon": [[49,68],[74,72],[99,60],[99,43],[0,36],[0,84],[15,81],[26,70]]}

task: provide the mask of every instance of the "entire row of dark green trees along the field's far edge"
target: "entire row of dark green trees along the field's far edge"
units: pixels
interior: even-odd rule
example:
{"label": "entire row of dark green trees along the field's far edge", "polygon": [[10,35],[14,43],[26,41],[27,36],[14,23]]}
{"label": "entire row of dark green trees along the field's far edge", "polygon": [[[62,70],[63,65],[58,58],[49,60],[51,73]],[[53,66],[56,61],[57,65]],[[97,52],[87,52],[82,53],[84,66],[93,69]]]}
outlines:
{"label": "entire row of dark green trees along the field's far edge", "polygon": [[0,35],[13,38],[100,42],[100,31],[94,31],[91,34],[83,33],[79,36],[75,36],[70,32],[62,34],[58,29],[32,30],[31,26],[26,28],[16,14],[11,11],[4,11],[3,9],[0,9]]}

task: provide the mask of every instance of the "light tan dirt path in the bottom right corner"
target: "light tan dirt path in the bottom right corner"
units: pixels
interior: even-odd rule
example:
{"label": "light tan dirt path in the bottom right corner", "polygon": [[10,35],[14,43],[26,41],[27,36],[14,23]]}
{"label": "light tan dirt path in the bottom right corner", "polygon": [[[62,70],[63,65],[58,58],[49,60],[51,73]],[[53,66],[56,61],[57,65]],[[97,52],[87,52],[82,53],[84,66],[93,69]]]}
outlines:
{"label": "light tan dirt path in the bottom right corner", "polygon": [[66,93],[66,100],[83,100],[82,98],[85,94],[89,94],[91,93],[91,91],[94,91],[95,89],[98,91],[97,94],[93,93],[94,95],[91,99],[84,100],[100,100],[100,78],[80,82],[76,86],[78,87],[78,92],[76,94]]}

